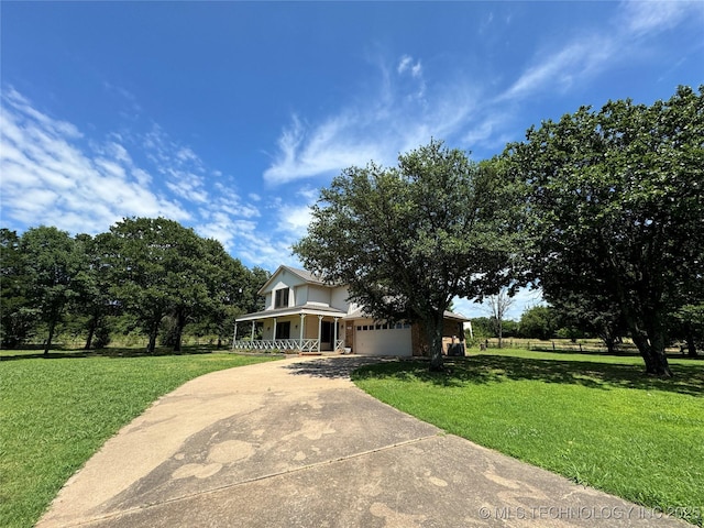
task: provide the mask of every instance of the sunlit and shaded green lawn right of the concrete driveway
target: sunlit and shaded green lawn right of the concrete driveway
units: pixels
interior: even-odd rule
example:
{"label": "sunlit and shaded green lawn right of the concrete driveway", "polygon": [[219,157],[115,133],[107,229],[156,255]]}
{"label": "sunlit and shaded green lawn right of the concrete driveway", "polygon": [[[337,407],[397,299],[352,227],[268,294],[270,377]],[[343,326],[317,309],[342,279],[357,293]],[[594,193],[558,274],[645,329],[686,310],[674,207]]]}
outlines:
{"label": "sunlit and shaded green lawn right of the concrete driveway", "polygon": [[673,380],[639,358],[492,351],[366,366],[355,383],[443,430],[580,484],[704,519],[704,362],[672,360]]}

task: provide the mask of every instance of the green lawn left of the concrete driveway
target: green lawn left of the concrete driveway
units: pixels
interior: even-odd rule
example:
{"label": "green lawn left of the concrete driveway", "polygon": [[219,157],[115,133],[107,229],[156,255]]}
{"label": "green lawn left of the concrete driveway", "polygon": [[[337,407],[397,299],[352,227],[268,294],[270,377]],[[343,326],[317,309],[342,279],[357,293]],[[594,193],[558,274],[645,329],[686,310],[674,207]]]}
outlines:
{"label": "green lawn left of the concrete driveway", "polygon": [[267,361],[133,354],[0,352],[0,526],[33,526],[68,477],[160,396],[208,372]]}

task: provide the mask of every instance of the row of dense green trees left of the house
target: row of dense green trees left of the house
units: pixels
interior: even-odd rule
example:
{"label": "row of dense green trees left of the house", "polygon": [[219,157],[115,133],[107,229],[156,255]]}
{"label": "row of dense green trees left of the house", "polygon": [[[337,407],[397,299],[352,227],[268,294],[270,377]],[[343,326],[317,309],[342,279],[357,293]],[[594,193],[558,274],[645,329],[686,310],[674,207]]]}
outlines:
{"label": "row of dense green trees left of the house", "polygon": [[40,340],[45,354],[64,323],[85,336],[86,349],[134,330],[150,353],[160,336],[180,351],[187,326],[220,345],[238,315],[262,307],[256,293],[270,277],[164,218],[123,219],[95,237],[0,229],[0,252],[2,346]]}

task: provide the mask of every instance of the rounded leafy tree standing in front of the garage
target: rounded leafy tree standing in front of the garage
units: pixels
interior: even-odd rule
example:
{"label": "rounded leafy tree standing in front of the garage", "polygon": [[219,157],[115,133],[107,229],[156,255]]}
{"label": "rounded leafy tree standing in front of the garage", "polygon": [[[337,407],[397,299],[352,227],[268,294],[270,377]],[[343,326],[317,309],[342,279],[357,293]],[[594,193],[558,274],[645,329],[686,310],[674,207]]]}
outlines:
{"label": "rounded leafy tree standing in front of the garage", "polygon": [[508,280],[512,197],[490,165],[432,141],[402,154],[397,167],[344,169],[321,189],[294,251],[308,270],[346,284],[371,317],[419,322],[431,369],[440,369],[452,299],[494,293]]}

